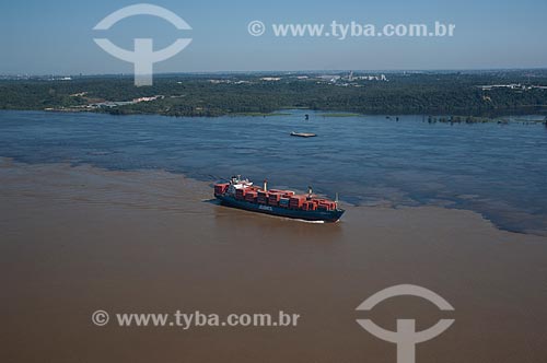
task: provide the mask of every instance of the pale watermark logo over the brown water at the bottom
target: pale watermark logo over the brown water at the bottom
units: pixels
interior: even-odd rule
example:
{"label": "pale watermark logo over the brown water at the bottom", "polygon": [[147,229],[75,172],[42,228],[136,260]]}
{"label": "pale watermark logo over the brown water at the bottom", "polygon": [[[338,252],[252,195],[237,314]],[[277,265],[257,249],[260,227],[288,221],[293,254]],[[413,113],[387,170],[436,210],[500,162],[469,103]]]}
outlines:
{"label": "pale watermark logo over the brown water at the bottom", "polygon": [[[386,298],[401,295],[418,296],[430,301],[441,311],[454,311],[443,297],[426,288],[401,284],[384,289],[362,302],[357,311],[370,311]],[[434,326],[416,331],[416,320],[397,319],[397,331],[386,330],[370,319],[358,319],[357,323],[373,336],[397,344],[397,363],[415,363],[416,344],[435,338],[446,330],[454,319],[441,319]]]}

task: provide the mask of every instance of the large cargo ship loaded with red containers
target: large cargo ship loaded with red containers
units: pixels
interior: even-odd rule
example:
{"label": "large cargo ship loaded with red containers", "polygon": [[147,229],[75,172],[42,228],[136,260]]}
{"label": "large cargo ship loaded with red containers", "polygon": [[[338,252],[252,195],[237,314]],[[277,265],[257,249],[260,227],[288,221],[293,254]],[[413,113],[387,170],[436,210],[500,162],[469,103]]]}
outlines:
{"label": "large cargo ship loaded with red containers", "polygon": [[216,184],[214,197],[228,207],[304,221],[336,222],[344,214],[337,201],[317,198],[311,187],[306,195],[268,190],[267,180],[259,188],[241,176],[233,176],[229,183]]}

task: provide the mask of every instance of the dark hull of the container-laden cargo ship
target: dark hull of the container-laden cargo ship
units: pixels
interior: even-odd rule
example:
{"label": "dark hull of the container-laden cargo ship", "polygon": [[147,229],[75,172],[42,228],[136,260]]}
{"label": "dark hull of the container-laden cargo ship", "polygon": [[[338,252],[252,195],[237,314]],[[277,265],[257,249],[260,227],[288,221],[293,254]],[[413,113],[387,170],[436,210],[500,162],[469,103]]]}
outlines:
{"label": "dark hull of the container-laden cargo ship", "polygon": [[289,209],[282,207],[252,203],[225,195],[214,196],[214,197],[217,197],[217,199],[219,199],[222,204],[228,207],[244,209],[252,212],[259,212],[265,214],[305,220],[305,221],[336,222],[344,214],[342,209],[336,209],[331,211],[324,211],[324,210],[304,211],[300,209]]}

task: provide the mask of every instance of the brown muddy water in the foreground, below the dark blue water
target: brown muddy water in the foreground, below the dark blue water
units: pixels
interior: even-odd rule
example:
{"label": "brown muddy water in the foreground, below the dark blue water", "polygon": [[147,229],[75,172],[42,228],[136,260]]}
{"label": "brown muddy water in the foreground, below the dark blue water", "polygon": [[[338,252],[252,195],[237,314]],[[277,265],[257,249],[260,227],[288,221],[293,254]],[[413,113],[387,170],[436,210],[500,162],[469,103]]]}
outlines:
{"label": "brown muddy water in the foreground, below the dark blue water", "polygon": [[[1,362],[396,362],[357,323],[419,330],[416,362],[547,362],[547,238],[470,211],[346,207],[336,224],[224,208],[163,172],[0,163]],[[454,312],[392,297],[401,283]],[[92,314],[110,314],[95,326]],[[117,313],[300,314],[293,327],[120,327]]]}

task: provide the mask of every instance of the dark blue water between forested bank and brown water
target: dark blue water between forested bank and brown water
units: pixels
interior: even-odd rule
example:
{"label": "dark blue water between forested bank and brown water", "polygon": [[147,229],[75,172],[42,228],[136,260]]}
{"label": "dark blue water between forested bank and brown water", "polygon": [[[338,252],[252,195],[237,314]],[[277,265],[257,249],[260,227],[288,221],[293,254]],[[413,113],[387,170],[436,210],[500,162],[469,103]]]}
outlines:
{"label": "dark blue water between forested bank and brown water", "polygon": [[[0,155],[27,163],[232,174],[356,204],[441,204],[510,231],[547,233],[544,125],[423,122],[421,116],[170,118],[0,112]],[[303,114],[311,121],[303,121]],[[290,137],[291,131],[317,138]]]}

